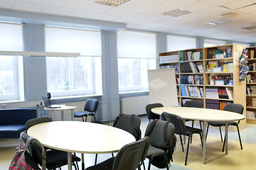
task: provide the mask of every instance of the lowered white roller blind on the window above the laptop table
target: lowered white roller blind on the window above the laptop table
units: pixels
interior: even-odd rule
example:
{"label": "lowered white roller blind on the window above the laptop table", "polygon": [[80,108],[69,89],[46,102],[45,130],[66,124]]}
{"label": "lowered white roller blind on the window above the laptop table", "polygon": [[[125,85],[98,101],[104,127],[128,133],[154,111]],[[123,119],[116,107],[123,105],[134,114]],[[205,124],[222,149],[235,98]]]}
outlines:
{"label": "lowered white roller blind on the window above the laptop table", "polygon": [[101,56],[101,32],[46,27],[47,52],[80,52],[80,55]]}

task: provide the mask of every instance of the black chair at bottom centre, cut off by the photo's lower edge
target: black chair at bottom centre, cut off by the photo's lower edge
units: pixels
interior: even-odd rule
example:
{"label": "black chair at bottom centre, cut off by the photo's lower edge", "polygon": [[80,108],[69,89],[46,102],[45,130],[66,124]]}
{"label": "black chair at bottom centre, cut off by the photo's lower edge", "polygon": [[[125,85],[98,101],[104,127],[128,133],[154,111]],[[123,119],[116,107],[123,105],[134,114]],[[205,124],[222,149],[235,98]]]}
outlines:
{"label": "black chair at bottom centre, cut off by the photo's lower edge", "polygon": [[116,157],[107,159],[105,162],[90,166],[85,170],[135,170],[141,169],[140,166],[146,158],[149,149],[149,137],[124,145]]}

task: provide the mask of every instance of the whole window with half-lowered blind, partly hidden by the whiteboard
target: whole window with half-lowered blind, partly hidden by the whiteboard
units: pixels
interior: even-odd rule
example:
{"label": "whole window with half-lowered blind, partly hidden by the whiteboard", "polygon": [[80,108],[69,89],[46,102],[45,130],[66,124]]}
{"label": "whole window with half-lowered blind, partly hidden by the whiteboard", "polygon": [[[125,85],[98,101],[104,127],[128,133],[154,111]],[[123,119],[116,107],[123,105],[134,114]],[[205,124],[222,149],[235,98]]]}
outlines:
{"label": "whole window with half-lowered blind, partly hidden by the whiteboard", "polygon": [[149,90],[147,70],[156,69],[156,34],[117,33],[119,92]]}

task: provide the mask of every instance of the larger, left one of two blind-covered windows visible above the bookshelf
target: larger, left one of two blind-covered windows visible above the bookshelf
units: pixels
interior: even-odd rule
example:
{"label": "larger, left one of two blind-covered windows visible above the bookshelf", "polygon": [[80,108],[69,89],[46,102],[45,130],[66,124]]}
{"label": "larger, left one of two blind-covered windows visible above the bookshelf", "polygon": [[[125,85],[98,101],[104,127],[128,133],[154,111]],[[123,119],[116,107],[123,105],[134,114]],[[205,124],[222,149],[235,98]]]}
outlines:
{"label": "larger, left one of two blind-covered windows visible above the bookshelf", "polygon": [[167,35],[167,51],[196,48],[196,38]]}

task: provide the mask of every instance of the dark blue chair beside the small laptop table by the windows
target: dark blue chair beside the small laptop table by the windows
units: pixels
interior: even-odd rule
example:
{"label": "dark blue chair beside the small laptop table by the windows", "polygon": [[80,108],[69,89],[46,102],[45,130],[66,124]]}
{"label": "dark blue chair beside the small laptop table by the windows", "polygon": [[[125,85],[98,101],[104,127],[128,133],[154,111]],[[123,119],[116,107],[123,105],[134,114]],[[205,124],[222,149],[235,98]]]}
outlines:
{"label": "dark blue chair beside the small laptop table by the windows", "polygon": [[[95,118],[95,114],[97,111],[97,106],[99,104],[99,101],[97,99],[93,99],[93,98],[89,98],[85,101],[85,111],[80,111],[80,112],[75,112],[74,113],[74,117],[75,118],[81,118],[82,117],[82,121],[86,122],[87,120],[87,116],[88,115],[92,115],[95,119],[95,123],[96,123],[96,118]],[[84,117],[85,116],[85,120]]]}

